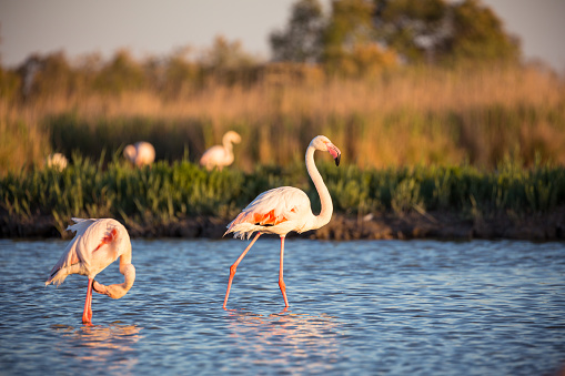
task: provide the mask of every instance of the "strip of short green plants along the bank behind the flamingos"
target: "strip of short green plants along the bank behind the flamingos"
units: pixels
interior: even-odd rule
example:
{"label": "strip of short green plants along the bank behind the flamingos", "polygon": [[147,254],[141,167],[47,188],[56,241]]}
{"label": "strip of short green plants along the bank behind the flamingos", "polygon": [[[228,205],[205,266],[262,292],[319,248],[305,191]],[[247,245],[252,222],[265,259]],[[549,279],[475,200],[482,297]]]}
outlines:
{"label": "strip of short green plants along the bank behind the flamingos", "polygon": [[[360,170],[322,162],[321,172],[342,214],[453,211],[461,217],[548,213],[565,205],[565,169],[535,165],[524,170],[509,162],[496,172],[472,166]],[[279,185],[306,191],[314,211],[317,193],[299,163],[285,169],[261,167],[206,172],[189,161],[159,162],[132,169],[114,156],[103,166],[74,155],[62,172],[51,169],[9,174],[0,181],[4,214],[13,223],[53,220],[62,233],[71,216],[114,217],[132,228],[167,226],[188,217],[233,217],[259,193]]]}

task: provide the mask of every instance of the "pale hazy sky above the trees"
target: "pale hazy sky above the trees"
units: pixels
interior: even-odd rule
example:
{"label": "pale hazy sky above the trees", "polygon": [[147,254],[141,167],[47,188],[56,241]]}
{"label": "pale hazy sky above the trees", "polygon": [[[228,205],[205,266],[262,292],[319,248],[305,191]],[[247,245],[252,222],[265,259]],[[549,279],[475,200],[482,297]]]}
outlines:
{"label": "pale hazy sky above the trees", "polygon": [[[331,0],[322,0],[329,9]],[[0,61],[20,64],[32,53],[64,51],[70,59],[119,49],[134,57],[209,48],[215,37],[241,41],[270,58],[269,34],[282,29],[295,0],[0,0]],[[565,74],[565,0],[483,0],[522,40],[526,60]]]}

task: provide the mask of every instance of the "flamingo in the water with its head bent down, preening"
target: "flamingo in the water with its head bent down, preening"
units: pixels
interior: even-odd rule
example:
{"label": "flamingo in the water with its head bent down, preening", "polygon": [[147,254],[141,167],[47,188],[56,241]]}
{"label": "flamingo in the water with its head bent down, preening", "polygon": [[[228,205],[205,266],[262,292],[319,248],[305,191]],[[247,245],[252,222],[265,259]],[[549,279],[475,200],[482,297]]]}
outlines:
{"label": "flamingo in the water with its head bent down, preening", "polygon": [[[46,286],[50,283],[60,285],[70,274],[88,276],[89,285],[82,323],[91,324],[92,289],[118,299],[133,286],[135,267],[131,264],[130,235],[125,227],[115,220],[72,219],[72,221],[75,224],[70,225],[67,230],[75,231],[77,234],[51,270]],[[104,286],[94,281],[97,274],[118,257],[120,257],[120,273],[124,275],[124,283]]]}

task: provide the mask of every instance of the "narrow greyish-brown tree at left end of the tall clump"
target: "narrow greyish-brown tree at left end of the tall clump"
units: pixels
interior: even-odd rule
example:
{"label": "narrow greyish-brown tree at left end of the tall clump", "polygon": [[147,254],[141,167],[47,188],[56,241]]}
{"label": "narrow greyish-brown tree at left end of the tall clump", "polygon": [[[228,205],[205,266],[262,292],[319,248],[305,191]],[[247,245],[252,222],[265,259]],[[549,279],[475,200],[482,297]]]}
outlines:
{"label": "narrow greyish-brown tree at left end of the tall clump", "polygon": [[270,35],[273,60],[319,62],[324,23],[319,0],[299,0],[292,7],[286,29]]}

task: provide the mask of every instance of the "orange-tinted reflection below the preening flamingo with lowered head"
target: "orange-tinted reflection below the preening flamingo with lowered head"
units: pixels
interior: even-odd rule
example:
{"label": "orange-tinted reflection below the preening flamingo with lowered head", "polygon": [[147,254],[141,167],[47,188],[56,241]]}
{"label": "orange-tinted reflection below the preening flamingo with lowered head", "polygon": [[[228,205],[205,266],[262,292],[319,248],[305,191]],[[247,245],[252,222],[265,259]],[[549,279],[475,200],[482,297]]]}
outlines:
{"label": "orange-tinted reflection below the preening flamingo with lowered head", "polygon": [[63,334],[58,346],[79,360],[103,363],[105,370],[120,373],[131,373],[138,364],[131,345],[141,338],[139,326],[115,322],[108,326],[51,325],[51,328]]}

